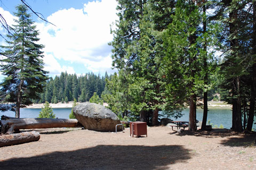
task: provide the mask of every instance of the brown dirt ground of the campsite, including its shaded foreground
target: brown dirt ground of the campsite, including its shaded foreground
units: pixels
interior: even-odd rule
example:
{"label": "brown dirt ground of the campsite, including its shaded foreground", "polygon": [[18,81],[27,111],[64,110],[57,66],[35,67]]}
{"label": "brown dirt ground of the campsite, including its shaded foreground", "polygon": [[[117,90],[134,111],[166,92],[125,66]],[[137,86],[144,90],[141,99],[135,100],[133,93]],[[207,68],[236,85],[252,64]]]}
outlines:
{"label": "brown dirt ground of the campsite, including its shaded foreground", "polygon": [[39,141],[0,148],[0,169],[256,169],[255,134],[148,127],[122,132],[37,129]]}

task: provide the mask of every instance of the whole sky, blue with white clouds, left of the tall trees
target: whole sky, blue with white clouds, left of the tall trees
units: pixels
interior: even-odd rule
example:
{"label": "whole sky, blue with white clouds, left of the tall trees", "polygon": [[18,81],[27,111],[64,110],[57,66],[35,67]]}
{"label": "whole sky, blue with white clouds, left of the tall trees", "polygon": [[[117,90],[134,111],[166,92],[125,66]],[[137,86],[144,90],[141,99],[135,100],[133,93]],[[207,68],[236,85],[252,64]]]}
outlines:
{"label": "whole sky, blue with white clouds, left of the tall trees", "polygon": [[[54,77],[61,72],[83,74],[93,72],[105,75],[111,69],[111,46],[113,39],[110,25],[118,19],[115,0],[27,0],[34,11],[56,26],[33,15],[39,30],[40,44],[45,45],[44,63],[46,71]],[[2,0],[0,13],[7,23],[13,22],[15,6],[20,0]],[[114,25],[112,26],[114,27]],[[0,29],[3,33],[3,28]],[[0,37],[0,44],[4,40]]]}

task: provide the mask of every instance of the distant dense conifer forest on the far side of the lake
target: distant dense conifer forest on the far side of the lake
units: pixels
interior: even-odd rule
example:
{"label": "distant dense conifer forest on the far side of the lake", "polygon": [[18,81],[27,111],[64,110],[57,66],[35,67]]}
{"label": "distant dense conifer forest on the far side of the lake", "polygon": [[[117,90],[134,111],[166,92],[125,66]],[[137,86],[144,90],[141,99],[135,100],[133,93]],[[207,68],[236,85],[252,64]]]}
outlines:
{"label": "distant dense conifer forest on the far side of the lake", "polygon": [[105,76],[86,73],[79,77],[76,74],[61,72],[59,76],[55,76],[54,79],[50,78],[46,82],[40,99],[33,100],[33,103],[45,103],[45,101],[65,103],[74,99],[81,102],[89,101],[94,92],[101,96],[105,89],[106,78],[109,79],[107,72]]}

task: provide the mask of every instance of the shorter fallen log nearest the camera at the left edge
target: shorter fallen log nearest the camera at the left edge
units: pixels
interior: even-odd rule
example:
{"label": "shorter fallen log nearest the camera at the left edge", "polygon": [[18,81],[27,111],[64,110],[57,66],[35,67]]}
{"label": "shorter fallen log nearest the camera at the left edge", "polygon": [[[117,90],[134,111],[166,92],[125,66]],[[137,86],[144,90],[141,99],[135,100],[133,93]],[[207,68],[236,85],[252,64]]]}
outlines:
{"label": "shorter fallen log nearest the camera at the left edge", "polygon": [[35,131],[0,135],[0,147],[38,141],[39,139],[40,134]]}

